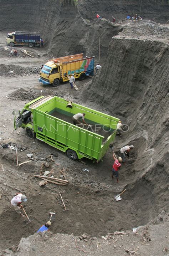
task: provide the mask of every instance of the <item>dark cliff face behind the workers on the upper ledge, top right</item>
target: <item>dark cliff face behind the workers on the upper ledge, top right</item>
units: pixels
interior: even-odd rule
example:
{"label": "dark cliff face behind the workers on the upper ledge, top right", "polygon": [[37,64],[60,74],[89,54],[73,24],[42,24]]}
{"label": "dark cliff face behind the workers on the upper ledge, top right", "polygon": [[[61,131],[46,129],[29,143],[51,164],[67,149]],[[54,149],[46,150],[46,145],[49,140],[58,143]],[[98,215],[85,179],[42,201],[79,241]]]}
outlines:
{"label": "dark cliff face behind the workers on the upper ledge, top right", "polygon": [[165,23],[168,21],[169,2],[167,0],[80,0],[78,10],[85,19],[93,19],[98,13],[101,17],[123,20],[127,14],[137,13],[143,19]]}

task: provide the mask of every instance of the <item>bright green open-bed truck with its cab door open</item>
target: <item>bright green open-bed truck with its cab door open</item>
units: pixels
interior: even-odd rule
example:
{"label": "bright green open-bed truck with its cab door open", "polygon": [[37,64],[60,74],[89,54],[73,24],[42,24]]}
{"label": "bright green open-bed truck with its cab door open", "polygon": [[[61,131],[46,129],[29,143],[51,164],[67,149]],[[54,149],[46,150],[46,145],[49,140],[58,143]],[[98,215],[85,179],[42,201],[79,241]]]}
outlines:
{"label": "bright green open-bed truck with its cab door open", "polygon": [[[92,127],[75,126],[72,116],[77,113],[85,113],[85,121]],[[73,160],[85,157],[98,162],[115,139],[118,121],[108,114],[48,95],[27,103],[15,115],[14,128],[24,128],[30,138],[66,152]]]}

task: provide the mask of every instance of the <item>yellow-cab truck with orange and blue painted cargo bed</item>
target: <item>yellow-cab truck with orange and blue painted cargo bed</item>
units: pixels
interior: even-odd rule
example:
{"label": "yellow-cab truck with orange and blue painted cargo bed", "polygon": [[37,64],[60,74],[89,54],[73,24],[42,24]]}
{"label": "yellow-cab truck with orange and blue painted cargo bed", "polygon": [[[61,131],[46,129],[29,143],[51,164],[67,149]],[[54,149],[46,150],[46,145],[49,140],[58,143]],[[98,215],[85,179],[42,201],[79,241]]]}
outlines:
{"label": "yellow-cab truck with orange and blue painted cargo bed", "polygon": [[83,58],[83,53],[49,60],[40,72],[39,82],[43,85],[58,86],[61,81],[69,80],[69,76],[84,80],[94,75],[94,57]]}

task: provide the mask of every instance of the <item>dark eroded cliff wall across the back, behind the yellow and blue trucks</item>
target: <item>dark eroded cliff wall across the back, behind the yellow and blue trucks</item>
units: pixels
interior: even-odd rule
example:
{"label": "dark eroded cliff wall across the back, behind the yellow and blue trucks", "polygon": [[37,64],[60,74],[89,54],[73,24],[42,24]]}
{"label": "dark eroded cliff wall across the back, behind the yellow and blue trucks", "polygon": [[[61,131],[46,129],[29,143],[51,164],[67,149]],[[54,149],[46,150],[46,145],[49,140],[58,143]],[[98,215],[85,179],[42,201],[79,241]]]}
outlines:
{"label": "dark eroded cliff wall across the back, behind the yellow and blue trucks", "polygon": [[[119,21],[128,13],[140,13],[140,2],[133,0],[78,0],[76,6],[60,2],[16,0],[14,4],[1,0],[1,30],[40,31],[47,52],[54,56],[79,52],[98,56],[98,37],[101,37],[101,58],[104,58],[111,37],[121,30],[108,22],[112,21],[111,16]],[[167,22],[168,7],[167,0],[142,0],[141,14],[144,19]],[[97,12],[107,21],[96,21]]]}

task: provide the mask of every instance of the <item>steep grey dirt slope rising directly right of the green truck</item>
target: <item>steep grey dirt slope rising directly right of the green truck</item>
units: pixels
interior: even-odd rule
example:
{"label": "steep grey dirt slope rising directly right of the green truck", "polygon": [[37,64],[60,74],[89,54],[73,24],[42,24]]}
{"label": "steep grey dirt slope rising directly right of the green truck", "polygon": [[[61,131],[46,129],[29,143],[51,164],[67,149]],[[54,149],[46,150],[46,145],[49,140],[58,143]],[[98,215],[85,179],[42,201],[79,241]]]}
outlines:
{"label": "steep grey dirt slope rising directly right of the green truck", "polygon": [[83,93],[83,101],[130,125],[116,141],[116,150],[133,144],[137,152],[128,170],[138,179],[126,188],[155,211],[160,205],[168,210],[168,84],[168,43],[121,35],[112,39],[106,61]]}

